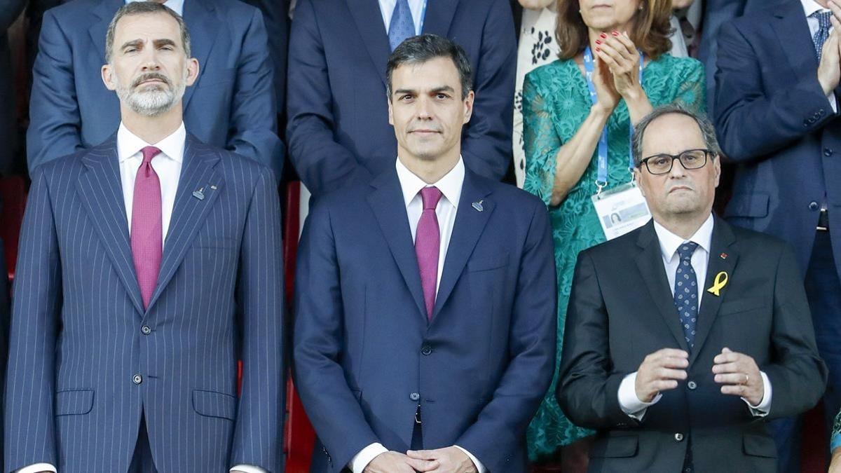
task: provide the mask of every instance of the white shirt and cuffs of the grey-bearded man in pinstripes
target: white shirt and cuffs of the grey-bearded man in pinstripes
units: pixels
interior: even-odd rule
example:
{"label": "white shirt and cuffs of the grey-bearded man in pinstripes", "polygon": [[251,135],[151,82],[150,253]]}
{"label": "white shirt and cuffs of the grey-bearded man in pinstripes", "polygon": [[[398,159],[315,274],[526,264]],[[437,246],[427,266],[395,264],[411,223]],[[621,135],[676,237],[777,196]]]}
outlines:
{"label": "white shirt and cuffs of the grey-bearded man in pinstripes", "polygon": [[[172,0],[167,3],[172,3]],[[183,1],[179,3],[183,4]],[[186,139],[187,131],[184,129],[183,122],[172,135],[158,141],[155,145],[146,143],[120,122],[117,130],[117,157],[119,159],[119,179],[123,186],[123,200],[125,215],[128,217],[129,232],[131,232],[131,206],[135,196],[135,178],[137,177],[137,170],[140,169],[140,164],[143,163],[143,154],[140,153],[140,150],[145,146],[155,146],[161,150],[161,153],[152,158],[151,165],[161,181],[161,226],[163,227],[161,242],[166,242],[169,222],[172,219],[172,207],[175,205],[178,178],[181,177],[184,141]],[[242,473],[267,473],[261,467],[252,465],[236,465],[230,470],[241,471]],[[36,463],[25,466],[15,473],[40,473],[41,471],[55,473],[56,467],[49,463]]]}

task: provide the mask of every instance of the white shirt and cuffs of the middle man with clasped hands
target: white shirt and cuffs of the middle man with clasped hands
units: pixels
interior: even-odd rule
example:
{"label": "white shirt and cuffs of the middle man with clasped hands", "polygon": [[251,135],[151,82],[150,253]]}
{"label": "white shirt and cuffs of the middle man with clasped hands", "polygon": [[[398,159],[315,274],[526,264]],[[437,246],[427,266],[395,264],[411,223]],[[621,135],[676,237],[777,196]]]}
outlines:
{"label": "white shirt and cuffs of the middle man with clasped hands", "polygon": [[[392,2],[394,3],[394,2]],[[411,2],[410,2],[411,3]],[[417,177],[407,167],[404,166],[400,160],[395,164],[397,167],[397,178],[400,181],[400,188],[403,189],[403,203],[406,206],[406,214],[409,216],[409,226],[412,232],[412,241],[415,241],[415,232],[417,231],[418,221],[421,220],[423,213],[423,199],[421,198],[421,189],[425,187],[435,186],[441,191],[442,198],[438,201],[435,208],[435,215],[438,218],[438,230],[441,232],[441,250],[438,254],[438,279],[435,284],[436,291],[438,284],[441,284],[441,274],[444,269],[444,259],[447,257],[447,247],[450,244],[450,237],[452,237],[452,226],[456,223],[456,211],[458,210],[458,200],[462,195],[462,184],[464,183],[464,161],[461,157],[449,173],[447,173],[438,182],[427,184],[423,179]],[[476,465],[476,470],[479,473],[485,473],[484,465],[476,457],[467,450],[455,445],[456,448],[462,450],[468,455],[473,465]],[[376,458],[379,454],[388,452],[383,444],[370,444],[364,449],[360,450],[348,464],[353,473],[362,473],[365,467],[371,463],[371,460]],[[401,452],[402,453],[402,452]]]}

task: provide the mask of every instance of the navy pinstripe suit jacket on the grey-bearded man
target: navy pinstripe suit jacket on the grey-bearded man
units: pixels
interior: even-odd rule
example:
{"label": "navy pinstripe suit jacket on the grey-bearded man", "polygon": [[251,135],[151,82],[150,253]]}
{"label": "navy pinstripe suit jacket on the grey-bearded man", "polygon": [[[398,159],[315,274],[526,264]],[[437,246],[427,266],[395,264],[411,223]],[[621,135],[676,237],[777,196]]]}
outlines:
{"label": "navy pinstripe suit jacket on the grey-bearded man", "polygon": [[[188,135],[144,311],[118,166],[112,136],[34,174],[14,284],[5,470],[126,471],[142,415],[161,473],[283,471],[271,171]],[[203,199],[193,192],[201,188]]]}

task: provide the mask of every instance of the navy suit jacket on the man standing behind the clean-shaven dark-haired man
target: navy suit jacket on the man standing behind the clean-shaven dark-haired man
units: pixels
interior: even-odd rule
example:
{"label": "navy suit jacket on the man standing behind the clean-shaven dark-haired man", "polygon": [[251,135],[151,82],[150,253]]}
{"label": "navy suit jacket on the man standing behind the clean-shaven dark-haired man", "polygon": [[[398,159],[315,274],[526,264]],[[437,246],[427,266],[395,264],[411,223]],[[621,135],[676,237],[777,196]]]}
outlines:
{"label": "navy suit jacket on the man standing behind the clean-shaven dark-haired man", "polygon": [[[516,38],[505,0],[431,0],[424,33],[462,45],[473,65],[464,162],[499,180],[511,162]],[[289,40],[290,158],[317,198],[394,166],[385,93],[391,51],[376,0],[300,0]]]}

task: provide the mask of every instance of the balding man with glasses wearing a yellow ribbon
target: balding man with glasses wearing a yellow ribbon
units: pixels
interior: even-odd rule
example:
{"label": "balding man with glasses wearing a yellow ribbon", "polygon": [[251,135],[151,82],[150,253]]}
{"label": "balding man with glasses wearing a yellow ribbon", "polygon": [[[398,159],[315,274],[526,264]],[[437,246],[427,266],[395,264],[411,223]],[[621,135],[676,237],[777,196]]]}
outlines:
{"label": "balding man with glasses wearing a yellow ribbon", "polygon": [[632,148],[653,221],[579,255],[558,402],[600,431],[590,471],[773,472],[766,421],[827,376],[794,253],[712,215],[706,119],[655,109]]}

